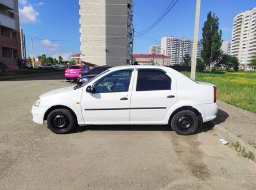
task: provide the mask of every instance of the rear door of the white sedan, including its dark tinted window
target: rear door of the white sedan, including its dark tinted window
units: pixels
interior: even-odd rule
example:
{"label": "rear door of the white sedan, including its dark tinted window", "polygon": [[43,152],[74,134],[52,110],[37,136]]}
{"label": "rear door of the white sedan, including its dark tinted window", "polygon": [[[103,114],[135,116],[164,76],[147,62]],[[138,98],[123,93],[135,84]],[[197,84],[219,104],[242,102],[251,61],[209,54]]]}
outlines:
{"label": "rear door of the white sedan, including its dark tinted window", "polygon": [[159,68],[137,68],[130,106],[131,122],[161,121],[176,101],[174,76]]}

